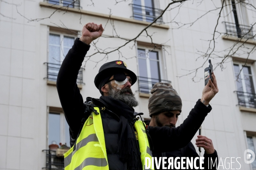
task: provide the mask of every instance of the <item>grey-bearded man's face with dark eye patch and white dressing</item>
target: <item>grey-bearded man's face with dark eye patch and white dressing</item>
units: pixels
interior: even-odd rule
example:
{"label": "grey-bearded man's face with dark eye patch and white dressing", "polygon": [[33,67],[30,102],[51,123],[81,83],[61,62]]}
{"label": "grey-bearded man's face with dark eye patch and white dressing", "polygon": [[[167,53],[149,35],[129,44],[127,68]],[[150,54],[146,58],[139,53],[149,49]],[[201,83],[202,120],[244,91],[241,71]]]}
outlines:
{"label": "grey-bearded man's face with dark eye patch and white dressing", "polygon": [[[125,73],[125,75],[127,74]],[[136,100],[133,92],[131,91],[131,78],[129,76],[126,78],[128,81],[124,85],[118,85],[114,80],[108,82],[108,95],[133,108],[139,105],[139,102]],[[110,80],[111,79],[113,79],[113,76],[110,78]]]}

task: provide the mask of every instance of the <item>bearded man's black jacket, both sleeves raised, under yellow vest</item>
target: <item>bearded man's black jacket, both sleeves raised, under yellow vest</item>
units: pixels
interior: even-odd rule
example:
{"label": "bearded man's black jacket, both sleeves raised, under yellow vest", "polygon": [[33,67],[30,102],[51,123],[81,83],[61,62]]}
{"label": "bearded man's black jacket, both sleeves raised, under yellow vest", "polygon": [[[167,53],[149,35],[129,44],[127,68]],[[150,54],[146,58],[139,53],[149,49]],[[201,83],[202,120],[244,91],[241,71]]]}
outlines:
{"label": "bearded man's black jacket, both sleeves raised, under yellow vest", "polygon": [[[76,84],[79,69],[89,48],[90,45],[81,42],[77,38],[73,47],[62,62],[57,78],[58,95],[67,123],[70,126],[70,137],[72,139],[76,139],[79,133],[81,119],[84,117],[88,118],[90,115],[90,113],[85,113],[84,100]],[[204,121],[205,116],[207,116],[207,113],[209,113],[211,109],[210,105],[209,107],[206,107],[199,99],[195,107],[190,111],[188,118],[180,125],[180,127],[149,127],[148,133],[152,138],[154,151],[171,151],[186,146],[186,144],[193,138]],[[102,116],[102,119],[105,119],[105,117],[106,116]],[[104,121],[105,120],[102,120],[102,122]],[[111,125],[111,127],[106,128],[118,130],[119,126]],[[109,130],[105,129],[104,132],[108,133]],[[109,140],[110,146],[106,146],[106,149],[111,150],[112,152],[115,149],[111,143],[118,143],[119,141],[113,141],[116,140],[115,138]],[[158,144],[159,141],[161,141],[161,145]],[[109,160],[109,167],[111,170],[119,169],[119,167],[115,165],[115,162],[116,160]],[[113,169],[111,167],[113,167]]]}

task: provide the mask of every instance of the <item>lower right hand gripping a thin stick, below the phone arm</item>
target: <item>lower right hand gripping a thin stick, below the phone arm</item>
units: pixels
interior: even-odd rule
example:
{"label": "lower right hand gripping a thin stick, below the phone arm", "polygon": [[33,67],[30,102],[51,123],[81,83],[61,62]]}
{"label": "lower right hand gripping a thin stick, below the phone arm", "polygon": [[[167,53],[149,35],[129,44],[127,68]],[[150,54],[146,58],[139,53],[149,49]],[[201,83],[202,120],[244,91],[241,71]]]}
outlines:
{"label": "lower right hand gripping a thin stick, below the phone arm", "polygon": [[212,144],[212,139],[209,139],[206,136],[202,135],[198,135],[197,137],[198,139],[195,139],[195,144],[197,147],[203,147],[208,155],[215,152],[215,149]]}

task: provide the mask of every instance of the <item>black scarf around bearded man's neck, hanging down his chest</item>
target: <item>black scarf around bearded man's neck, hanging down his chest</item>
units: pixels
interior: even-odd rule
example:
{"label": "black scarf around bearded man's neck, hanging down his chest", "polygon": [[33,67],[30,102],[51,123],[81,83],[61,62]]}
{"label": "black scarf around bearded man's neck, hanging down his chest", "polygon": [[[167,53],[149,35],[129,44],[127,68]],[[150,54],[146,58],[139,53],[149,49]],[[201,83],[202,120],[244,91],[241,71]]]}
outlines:
{"label": "black scarf around bearded man's neck, hanging down his chest", "polygon": [[101,96],[99,101],[120,118],[119,123],[122,125],[118,135],[118,153],[120,158],[127,163],[128,170],[141,170],[140,148],[133,128],[134,109],[111,96]]}

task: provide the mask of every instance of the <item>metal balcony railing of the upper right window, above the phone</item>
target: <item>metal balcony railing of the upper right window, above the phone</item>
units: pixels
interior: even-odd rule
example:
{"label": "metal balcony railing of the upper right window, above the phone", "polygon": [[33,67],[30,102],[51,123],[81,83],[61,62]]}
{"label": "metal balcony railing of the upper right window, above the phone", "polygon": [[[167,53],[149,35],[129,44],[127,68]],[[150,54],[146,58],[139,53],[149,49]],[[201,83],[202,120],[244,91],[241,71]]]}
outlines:
{"label": "metal balcony railing of the upper right window, above the phone", "polygon": [[223,22],[223,23],[225,23],[227,35],[232,35],[232,36],[236,36],[239,38],[246,38],[246,39],[253,38],[252,26],[244,26],[244,25],[239,25],[236,23],[228,23],[228,22]]}

